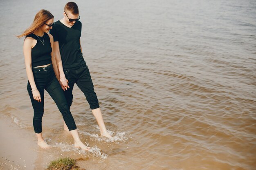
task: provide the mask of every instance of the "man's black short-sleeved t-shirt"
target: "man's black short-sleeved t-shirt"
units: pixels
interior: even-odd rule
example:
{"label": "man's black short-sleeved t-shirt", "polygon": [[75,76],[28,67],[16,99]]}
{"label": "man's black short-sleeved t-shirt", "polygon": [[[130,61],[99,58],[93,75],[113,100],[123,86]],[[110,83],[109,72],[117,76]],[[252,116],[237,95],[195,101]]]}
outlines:
{"label": "man's black short-sleeved t-shirt", "polygon": [[76,21],[69,28],[59,20],[55,22],[50,30],[54,41],[58,41],[64,69],[75,70],[85,65],[80,46],[81,30],[82,23],[80,21]]}

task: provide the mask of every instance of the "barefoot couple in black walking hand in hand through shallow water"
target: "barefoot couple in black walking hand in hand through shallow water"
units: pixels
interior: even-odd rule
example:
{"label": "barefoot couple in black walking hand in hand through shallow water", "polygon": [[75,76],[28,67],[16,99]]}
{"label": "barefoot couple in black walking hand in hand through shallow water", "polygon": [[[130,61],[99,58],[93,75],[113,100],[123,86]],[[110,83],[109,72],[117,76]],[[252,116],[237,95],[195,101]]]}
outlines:
{"label": "barefoot couple in black walking hand in hand through shallow water", "polygon": [[[97,95],[94,92],[88,66],[83,59],[81,48],[81,27],[79,9],[75,2],[64,7],[64,17],[54,24],[54,16],[40,10],[32,25],[18,38],[26,36],[23,45],[27,77],[27,91],[34,109],[33,126],[41,148],[50,146],[42,135],[44,91],[54,99],[63,119],[64,129],[74,138],[74,146],[83,150],[90,148],[80,140],[70,106],[74,83],[84,93],[96,118],[101,136],[111,137],[103,122]],[[50,31],[51,30],[51,31]],[[50,34],[47,34],[50,31]]]}

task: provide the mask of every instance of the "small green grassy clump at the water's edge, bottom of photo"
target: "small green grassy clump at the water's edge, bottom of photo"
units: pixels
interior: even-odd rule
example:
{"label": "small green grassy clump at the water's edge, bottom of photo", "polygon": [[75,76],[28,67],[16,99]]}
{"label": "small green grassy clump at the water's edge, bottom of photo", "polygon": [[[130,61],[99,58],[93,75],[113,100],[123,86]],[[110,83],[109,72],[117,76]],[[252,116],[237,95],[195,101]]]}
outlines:
{"label": "small green grassy clump at the water's edge, bottom of photo", "polygon": [[51,161],[46,170],[70,170],[76,161],[70,157],[60,158],[56,161]]}

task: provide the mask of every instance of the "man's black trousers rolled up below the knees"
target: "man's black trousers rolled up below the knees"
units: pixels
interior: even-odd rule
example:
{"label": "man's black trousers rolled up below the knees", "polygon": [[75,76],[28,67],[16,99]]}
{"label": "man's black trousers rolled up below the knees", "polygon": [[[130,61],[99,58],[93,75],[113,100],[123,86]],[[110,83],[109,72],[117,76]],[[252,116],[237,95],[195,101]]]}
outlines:
{"label": "man's black trousers rolled up below the knees", "polygon": [[86,100],[90,104],[91,109],[99,108],[99,101],[97,95],[94,92],[92,78],[88,66],[84,65],[76,70],[66,70],[64,69],[66,79],[68,79],[67,91],[64,91],[64,95],[67,99],[67,105],[70,107],[73,101],[73,88],[74,84],[80,88],[86,97]]}

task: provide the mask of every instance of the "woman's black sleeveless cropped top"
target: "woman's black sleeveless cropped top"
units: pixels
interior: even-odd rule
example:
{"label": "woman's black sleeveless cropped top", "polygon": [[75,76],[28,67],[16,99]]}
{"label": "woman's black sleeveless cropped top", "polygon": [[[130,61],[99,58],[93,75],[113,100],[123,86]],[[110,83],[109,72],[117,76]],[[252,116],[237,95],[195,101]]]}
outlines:
{"label": "woman's black sleeveless cropped top", "polygon": [[44,36],[45,36],[45,40],[43,40],[44,38],[43,36],[39,37],[39,36],[36,36],[34,33],[31,33],[26,36],[26,38],[31,37],[37,40],[36,45],[32,48],[32,51],[31,51],[32,67],[43,66],[43,65],[52,63],[52,56],[51,56],[52,47],[51,47],[50,38],[47,33],[44,33]]}

